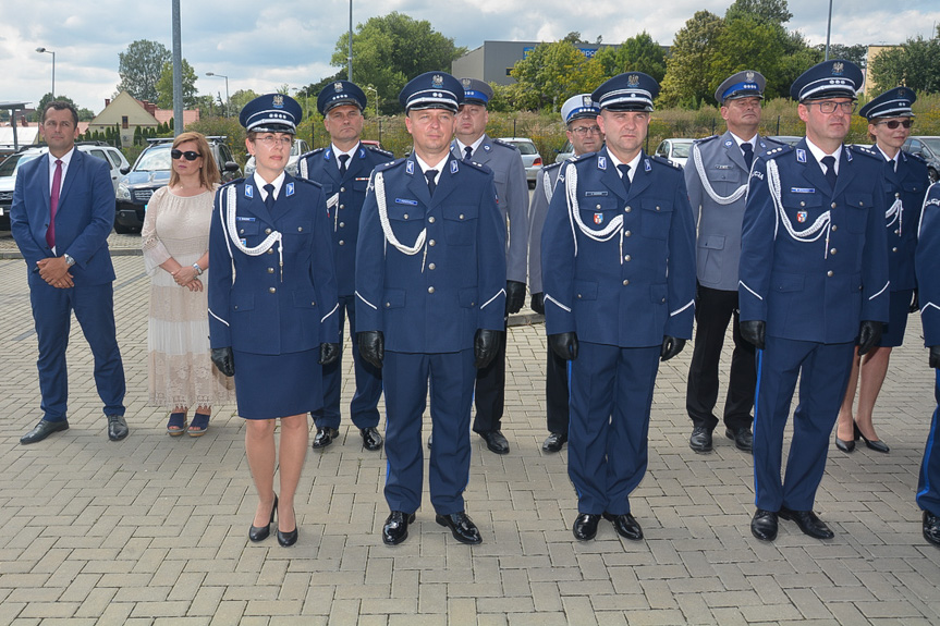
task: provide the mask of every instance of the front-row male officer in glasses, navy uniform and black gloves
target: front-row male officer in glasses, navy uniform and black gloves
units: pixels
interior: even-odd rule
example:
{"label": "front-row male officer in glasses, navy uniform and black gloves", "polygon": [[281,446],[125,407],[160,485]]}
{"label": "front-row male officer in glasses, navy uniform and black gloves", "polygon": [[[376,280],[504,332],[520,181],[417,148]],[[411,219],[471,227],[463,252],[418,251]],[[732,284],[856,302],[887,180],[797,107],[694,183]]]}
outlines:
{"label": "front-row male officer in glasses, navy uniform and black gloves", "polygon": [[[777,537],[778,516],[818,539],[813,512],[852,353],[868,352],[888,320],[883,161],[842,140],[862,71],[825,61],[790,88],[806,138],[758,157],[741,241],[741,334],[757,346],[750,531]],[[799,405],[781,482],[783,429],[799,377]]]}

